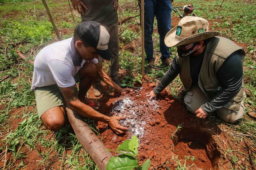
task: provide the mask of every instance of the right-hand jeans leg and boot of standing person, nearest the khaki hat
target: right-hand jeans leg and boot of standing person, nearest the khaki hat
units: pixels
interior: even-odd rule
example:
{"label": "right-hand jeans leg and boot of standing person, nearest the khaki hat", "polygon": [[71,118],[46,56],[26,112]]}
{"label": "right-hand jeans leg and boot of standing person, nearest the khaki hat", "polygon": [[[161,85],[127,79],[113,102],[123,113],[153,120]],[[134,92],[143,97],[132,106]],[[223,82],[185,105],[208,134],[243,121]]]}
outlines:
{"label": "right-hand jeans leg and boot of standing person, nearest the khaki hat", "polygon": [[170,47],[164,43],[165,35],[171,30],[172,3],[170,0],[157,1],[156,20],[160,39],[160,57],[162,61],[170,58]]}

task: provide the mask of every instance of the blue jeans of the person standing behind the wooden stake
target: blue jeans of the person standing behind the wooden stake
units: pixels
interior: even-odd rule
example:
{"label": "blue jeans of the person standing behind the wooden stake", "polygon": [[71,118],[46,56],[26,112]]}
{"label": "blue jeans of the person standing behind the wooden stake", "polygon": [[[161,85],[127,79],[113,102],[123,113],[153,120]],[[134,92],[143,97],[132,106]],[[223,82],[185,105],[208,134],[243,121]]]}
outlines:
{"label": "blue jeans of the person standing behind the wooden stake", "polygon": [[[140,3],[139,3],[140,6]],[[161,59],[170,57],[169,47],[164,44],[165,35],[171,30],[172,3],[170,0],[145,0],[144,1],[144,43],[147,57],[145,60],[152,61],[153,57],[153,24],[156,16],[157,29],[160,39]]]}

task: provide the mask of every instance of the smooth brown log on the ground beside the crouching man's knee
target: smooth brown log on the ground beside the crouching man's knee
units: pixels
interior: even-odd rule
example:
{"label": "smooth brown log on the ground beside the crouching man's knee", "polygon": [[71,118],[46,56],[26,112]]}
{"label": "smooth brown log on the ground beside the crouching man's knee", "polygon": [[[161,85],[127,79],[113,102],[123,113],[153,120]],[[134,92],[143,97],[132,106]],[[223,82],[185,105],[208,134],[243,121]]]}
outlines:
{"label": "smooth brown log on the ground beside the crouching man's knee", "polygon": [[100,141],[83,117],[66,107],[67,115],[73,127],[78,141],[82,144],[87,153],[92,157],[100,170],[105,170],[108,161],[113,155],[107,151],[106,146]]}

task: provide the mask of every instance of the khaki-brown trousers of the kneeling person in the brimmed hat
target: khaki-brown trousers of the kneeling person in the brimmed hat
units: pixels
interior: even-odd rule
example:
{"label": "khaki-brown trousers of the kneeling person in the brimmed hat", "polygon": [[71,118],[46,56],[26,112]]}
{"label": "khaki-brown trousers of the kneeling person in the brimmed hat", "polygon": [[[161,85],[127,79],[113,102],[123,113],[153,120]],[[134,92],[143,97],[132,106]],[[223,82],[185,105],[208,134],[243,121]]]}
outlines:
{"label": "khaki-brown trousers of the kneeling person in the brimmed hat", "polygon": [[[201,107],[207,101],[209,101],[209,98],[204,94],[199,86],[192,86],[184,97],[184,102],[187,109],[193,114],[195,114],[196,110],[199,109],[199,107]],[[244,115],[244,112],[245,108],[243,100],[239,111],[231,110],[226,107],[221,107],[216,110],[217,115],[219,115],[222,120],[231,123],[241,119]]]}

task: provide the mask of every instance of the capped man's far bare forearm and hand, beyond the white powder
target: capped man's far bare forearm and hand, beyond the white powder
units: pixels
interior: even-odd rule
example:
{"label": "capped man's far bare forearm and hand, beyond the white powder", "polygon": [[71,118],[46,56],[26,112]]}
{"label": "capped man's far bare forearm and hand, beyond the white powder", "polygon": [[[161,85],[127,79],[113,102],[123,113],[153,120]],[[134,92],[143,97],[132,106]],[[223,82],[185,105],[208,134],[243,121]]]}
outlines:
{"label": "capped man's far bare forearm and hand, beyond the white powder", "polygon": [[130,89],[130,88],[121,88],[119,87],[106,73],[105,71],[103,71],[100,67],[100,64],[97,63],[97,64],[94,64],[96,67],[97,67],[97,71],[98,71],[98,74],[100,76],[100,78],[102,79],[102,81],[104,81],[107,85],[111,86],[113,89],[115,89],[115,91],[117,91],[118,93],[122,93],[122,92],[125,92],[125,91],[130,91],[132,92],[133,90]]}

